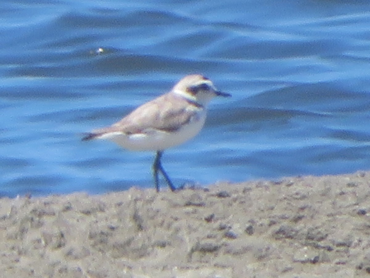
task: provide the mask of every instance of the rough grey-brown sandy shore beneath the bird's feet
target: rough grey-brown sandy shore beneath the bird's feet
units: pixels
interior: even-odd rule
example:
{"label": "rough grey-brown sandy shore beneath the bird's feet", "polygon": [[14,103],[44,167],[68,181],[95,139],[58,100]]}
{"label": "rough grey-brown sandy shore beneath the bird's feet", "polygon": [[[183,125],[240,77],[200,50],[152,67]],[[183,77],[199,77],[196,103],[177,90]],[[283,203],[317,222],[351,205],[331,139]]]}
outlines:
{"label": "rough grey-brown sandy shore beneath the bird's feet", "polygon": [[1,277],[370,277],[370,172],[1,199]]}

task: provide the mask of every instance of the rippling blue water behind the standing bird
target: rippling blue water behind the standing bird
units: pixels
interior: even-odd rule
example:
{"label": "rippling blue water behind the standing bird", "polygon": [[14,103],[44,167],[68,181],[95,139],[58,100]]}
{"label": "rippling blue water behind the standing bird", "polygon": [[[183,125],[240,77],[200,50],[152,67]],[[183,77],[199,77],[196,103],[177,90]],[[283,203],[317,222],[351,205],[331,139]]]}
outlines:
{"label": "rippling blue water behind the standing bird", "polygon": [[367,0],[2,0],[0,15],[0,196],[151,187],[153,153],[81,133],[189,73],[232,98],[165,152],[176,186],[370,169]]}

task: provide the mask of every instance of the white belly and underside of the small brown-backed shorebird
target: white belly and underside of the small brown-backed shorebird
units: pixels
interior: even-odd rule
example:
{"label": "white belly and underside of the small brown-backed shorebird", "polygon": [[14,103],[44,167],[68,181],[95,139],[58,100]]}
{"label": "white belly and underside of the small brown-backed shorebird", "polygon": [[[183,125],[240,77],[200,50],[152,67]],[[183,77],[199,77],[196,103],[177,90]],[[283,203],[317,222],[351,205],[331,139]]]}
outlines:
{"label": "white belly and underside of the small brown-backed shorebird", "polygon": [[125,135],[120,132],[112,132],[100,137],[111,140],[128,150],[164,150],[180,145],[193,138],[202,129],[206,115],[202,115],[176,132],[166,132],[156,129],[146,130],[145,133]]}

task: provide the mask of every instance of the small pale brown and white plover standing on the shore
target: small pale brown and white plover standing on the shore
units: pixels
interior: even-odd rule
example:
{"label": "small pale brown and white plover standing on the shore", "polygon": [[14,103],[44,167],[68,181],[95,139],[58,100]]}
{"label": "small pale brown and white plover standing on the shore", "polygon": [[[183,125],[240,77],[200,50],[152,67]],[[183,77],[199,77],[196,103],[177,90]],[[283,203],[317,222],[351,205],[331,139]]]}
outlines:
{"label": "small pale brown and white plover standing on the shore", "polygon": [[154,184],[159,191],[158,171],[169,188],[175,186],[161,165],[165,149],[184,143],[202,129],[207,104],[215,96],[231,96],[220,92],[212,81],[201,75],[188,75],[170,92],[157,97],[106,128],[87,133],[82,140],[108,139],[128,150],[154,150]]}

